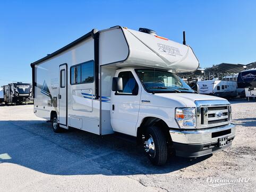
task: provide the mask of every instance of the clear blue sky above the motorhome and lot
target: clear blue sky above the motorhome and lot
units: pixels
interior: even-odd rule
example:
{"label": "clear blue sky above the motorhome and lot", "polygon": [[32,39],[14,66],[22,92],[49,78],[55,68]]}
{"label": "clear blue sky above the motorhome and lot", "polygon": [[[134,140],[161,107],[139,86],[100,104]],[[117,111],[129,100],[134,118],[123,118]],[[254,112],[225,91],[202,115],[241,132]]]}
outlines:
{"label": "clear blue sky above the motorhome and lot", "polygon": [[256,61],[256,1],[11,1],[0,5],[0,86],[92,28],[122,25],[186,42],[200,67]]}

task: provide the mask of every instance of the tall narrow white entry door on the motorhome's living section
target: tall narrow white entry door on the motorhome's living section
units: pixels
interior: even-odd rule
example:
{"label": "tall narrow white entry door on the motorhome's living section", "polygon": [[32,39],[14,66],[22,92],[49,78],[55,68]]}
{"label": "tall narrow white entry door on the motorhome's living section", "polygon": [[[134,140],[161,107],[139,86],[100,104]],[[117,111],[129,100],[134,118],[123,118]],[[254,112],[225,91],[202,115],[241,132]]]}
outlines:
{"label": "tall narrow white entry door on the motorhome's living section", "polygon": [[67,65],[59,66],[59,124],[67,125]]}

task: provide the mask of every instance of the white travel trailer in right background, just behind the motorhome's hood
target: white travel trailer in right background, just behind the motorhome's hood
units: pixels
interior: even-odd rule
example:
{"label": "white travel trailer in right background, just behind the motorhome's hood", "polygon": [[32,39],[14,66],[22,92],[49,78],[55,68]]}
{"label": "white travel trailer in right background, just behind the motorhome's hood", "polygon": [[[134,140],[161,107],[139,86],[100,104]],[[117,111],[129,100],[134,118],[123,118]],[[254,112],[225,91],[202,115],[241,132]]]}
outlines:
{"label": "white travel trailer in right background, just behind the motorhome's hood", "polygon": [[222,98],[232,98],[237,96],[236,81],[208,80],[198,81],[198,93],[215,95]]}

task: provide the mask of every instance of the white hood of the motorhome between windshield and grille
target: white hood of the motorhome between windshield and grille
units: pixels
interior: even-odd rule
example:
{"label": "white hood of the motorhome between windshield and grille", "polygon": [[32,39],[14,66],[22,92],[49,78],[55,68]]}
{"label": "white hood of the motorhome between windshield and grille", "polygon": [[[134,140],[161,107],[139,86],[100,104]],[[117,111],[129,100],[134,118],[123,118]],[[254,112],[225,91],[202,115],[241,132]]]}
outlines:
{"label": "white hood of the motorhome between windshield and grille", "polygon": [[193,102],[193,105],[194,105],[195,101],[226,100],[224,98],[219,98],[211,95],[195,94],[195,93],[155,93],[155,95],[157,95],[158,97],[163,97],[163,98],[183,102],[187,107],[192,107],[191,104]]}

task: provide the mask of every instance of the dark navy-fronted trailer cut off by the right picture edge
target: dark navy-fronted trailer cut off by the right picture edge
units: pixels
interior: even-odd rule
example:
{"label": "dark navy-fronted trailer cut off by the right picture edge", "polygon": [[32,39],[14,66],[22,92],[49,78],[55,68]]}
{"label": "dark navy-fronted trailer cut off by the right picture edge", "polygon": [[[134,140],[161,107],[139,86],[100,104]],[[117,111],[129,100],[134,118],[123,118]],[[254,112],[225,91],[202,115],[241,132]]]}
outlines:
{"label": "dark navy-fronted trailer cut off by the right picture edge", "polygon": [[244,89],[245,97],[256,97],[256,69],[238,73],[237,88]]}

